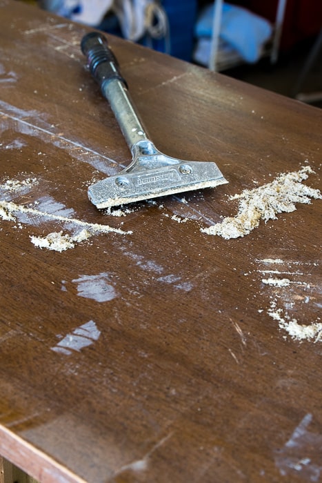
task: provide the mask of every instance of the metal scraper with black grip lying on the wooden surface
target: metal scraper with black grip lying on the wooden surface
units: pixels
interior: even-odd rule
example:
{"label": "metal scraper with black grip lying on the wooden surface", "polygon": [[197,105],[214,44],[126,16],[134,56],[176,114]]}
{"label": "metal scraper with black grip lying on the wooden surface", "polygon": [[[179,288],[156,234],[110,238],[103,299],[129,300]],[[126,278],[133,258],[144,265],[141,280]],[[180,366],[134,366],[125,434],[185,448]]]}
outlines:
{"label": "metal scraper with black grip lying on the wooden surface", "polygon": [[132,162],[127,168],[88,188],[88,197],[97,208],[228,183],[214,162],[183,161],[163,154],[154,146],[103,34],[86,34],[81,40],[81,50],[132,152]]}

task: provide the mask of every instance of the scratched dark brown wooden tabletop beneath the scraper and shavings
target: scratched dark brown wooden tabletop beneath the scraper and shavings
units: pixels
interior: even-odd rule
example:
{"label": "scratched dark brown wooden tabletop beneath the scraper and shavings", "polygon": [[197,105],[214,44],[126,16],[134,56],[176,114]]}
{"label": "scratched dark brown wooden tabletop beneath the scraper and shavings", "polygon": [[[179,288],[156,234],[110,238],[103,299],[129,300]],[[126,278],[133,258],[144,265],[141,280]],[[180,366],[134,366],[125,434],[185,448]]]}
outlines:
{"label": "scratched dark brown wooden tabletop beneath the scraper and shavings", "polygon": [[[319,324],[321,201],[240,239],[200,230],[281,172],[319,188],[321,110],[111,38],[156,146],[229,184],[108,215],[87,187],[130,153],[86,28],[10,0],[0,23],[0,194],[22,207],[0,219],[0,454],[41,482],[321,481],[322,340],[269,314]],[[132,234],[37,248],[63,216]]]}

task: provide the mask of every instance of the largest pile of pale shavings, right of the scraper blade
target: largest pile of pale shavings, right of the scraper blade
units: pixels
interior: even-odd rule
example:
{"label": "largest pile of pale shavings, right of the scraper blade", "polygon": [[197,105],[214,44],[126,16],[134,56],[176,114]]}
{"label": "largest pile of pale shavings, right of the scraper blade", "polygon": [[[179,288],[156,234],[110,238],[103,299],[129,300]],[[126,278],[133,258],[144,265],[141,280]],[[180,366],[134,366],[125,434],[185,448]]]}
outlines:
{"label": "largest pile of pale shavings, right of the scraper blade", "polygon": [[243,190],[240,195],[230,198],[240,200],[235,217],[227,217],[220,224],[201,228],[201,231],[225,239],[243,237],[257,228],[261,219],[267,223],[270,219],[276,219],[278,213],[296,210],[296,203],[308,204],[310,198],[322,199],[319,190],[301,184],[312,172],[310,166],[303,166],[301,170],[283,173],[259,188]]}

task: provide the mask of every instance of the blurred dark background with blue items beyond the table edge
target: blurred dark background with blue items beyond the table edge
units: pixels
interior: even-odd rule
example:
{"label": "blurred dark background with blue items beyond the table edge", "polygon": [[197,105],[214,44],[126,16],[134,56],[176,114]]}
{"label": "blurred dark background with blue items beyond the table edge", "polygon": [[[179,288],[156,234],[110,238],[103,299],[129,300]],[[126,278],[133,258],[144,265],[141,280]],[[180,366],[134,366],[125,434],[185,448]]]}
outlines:
{"label": "blurred dark background with blue items beyond the table edge", "polygon": [[322,108],[322,0],[25,1]]}

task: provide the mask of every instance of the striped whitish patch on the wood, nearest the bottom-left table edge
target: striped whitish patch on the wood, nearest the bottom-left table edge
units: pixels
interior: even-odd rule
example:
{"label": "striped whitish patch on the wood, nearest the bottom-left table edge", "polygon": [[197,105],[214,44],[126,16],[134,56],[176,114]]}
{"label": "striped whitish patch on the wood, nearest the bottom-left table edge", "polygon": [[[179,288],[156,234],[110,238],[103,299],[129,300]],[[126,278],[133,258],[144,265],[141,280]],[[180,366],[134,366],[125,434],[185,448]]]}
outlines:
{"label": "striped whitish patch on the wood, nearest the bottom-left table edge", "polygon": [[66,335],[56,346],[52,347],[52,351],[61,354],[70,355],[72,351],[81,351],[82,348],[90,346],[94,341],[99,339],[101,331],[93,320],[74,329],[71,334]]}

